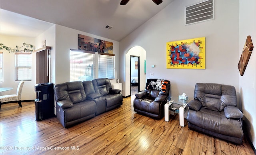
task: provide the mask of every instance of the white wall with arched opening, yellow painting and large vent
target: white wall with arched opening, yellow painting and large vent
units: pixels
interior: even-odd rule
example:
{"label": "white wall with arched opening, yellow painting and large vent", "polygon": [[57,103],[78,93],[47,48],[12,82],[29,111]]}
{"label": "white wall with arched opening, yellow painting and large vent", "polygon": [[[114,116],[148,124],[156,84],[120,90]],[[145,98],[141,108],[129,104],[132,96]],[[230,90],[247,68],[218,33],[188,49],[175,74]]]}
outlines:
{"label": "white wall with arched opening, yellow painting and large vent", "polygon": [[[185,26],[185,6],[197,2],[202,0],[176,0],[121,40],[120,79],[127,81],[128,77],[124,67],[125,53],[138,45],[146,50],[146,78],[169,79],[172,96],[184,92],[193,97],[197,82],[233,85],[239,91],[239,3],[237,0],[214,0],[214,20]],[[198,37],[206,37],[206,69],[166,69],[166,42]],[[151,65],[156,67],[151,68]]]}

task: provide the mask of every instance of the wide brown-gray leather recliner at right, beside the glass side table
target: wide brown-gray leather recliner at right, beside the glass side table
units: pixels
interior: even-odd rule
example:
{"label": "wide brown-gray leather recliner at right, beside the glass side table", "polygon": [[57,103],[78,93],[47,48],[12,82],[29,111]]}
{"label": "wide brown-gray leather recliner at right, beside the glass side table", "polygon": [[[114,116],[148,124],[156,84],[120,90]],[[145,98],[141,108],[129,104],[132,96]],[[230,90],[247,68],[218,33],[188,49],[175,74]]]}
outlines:
{"label": "wide brown-gray leather recliner at right, beside the glass side table", "polygon": [[188,103],[188,127],[233,143],[242,143],[243,113],[236,107],[231,85],[196,83],[194,100]]}

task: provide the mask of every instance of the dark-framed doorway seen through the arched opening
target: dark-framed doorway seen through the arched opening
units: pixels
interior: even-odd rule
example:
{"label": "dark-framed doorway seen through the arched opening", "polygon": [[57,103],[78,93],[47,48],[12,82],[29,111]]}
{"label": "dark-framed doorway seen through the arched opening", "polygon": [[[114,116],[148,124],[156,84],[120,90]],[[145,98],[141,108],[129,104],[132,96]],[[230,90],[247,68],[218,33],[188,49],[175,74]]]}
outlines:
{"label": "dark-framed doorway seen through the arched opening", "polygon": [[140,90],[140,57],[130,56],[130,81],[131,95],[134,95]]}

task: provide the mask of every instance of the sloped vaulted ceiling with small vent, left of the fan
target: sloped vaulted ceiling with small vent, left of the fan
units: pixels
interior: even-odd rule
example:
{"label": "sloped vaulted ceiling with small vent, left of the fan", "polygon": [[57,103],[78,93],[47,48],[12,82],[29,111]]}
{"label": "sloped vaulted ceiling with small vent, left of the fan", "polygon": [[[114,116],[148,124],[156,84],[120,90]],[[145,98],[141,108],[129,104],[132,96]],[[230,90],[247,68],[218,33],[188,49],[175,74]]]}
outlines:
{"label": "sloped vaulted ceiling with small vent, left of the fan", "polygon": [[121,0],[0,0],[0,32],[35,37],[58,24],[120,41],[172,1],[130,0],[123,6]]}

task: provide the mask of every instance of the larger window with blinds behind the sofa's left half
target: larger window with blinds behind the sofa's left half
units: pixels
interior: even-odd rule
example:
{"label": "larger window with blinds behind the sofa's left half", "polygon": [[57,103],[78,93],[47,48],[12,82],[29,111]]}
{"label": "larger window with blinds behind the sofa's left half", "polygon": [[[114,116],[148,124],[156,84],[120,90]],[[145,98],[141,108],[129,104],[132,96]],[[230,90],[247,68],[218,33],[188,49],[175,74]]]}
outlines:
{"label": "larger window with blinds behind the sofa's left half", "polygon": [[70,81],[94,79],[95,52],[70,50]]}

